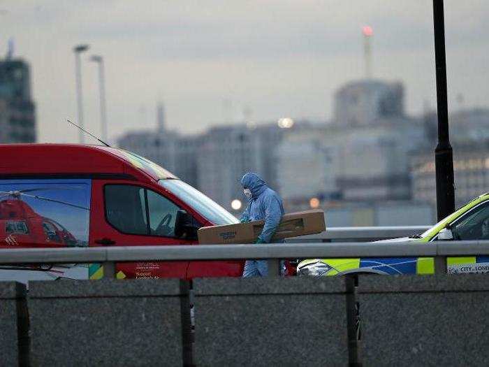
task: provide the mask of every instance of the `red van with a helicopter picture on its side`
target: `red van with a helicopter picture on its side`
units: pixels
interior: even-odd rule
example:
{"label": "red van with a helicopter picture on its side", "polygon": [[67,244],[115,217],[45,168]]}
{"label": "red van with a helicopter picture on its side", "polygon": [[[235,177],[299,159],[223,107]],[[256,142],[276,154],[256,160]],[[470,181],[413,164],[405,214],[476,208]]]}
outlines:
{"label": "red van with a helicopter picture on its side", "polygon": [[[0,249],[198,245],[236,218],[137,154],[100,145],[0,145]],[[240,276],[243,261],[117,264],[117,278]],[[97,279],[100,264],[0,266],[0,280]]]}

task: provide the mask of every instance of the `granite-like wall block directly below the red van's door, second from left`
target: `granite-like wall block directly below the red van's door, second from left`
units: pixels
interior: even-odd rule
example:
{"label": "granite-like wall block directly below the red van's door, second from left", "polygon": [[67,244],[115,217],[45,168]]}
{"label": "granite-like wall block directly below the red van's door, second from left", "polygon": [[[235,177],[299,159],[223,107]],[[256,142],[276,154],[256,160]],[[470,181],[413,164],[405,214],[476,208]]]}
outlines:
{"label": "granite-like wall block directly below the red van's door, second from left", "polygon": [[29,283],[32,366],[182,366],[180,280]]}

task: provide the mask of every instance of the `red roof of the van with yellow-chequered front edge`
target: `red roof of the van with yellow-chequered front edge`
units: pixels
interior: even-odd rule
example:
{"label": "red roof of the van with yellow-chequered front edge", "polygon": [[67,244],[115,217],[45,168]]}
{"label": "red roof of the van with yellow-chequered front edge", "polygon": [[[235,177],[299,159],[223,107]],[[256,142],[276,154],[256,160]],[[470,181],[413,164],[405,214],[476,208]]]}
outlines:
{"label": "red roof of the van with yellow-chequered front edge", "polygon": [[80,144],[0,144],[0,175],[124,174],[138,180],[177,178],[137,154]]}

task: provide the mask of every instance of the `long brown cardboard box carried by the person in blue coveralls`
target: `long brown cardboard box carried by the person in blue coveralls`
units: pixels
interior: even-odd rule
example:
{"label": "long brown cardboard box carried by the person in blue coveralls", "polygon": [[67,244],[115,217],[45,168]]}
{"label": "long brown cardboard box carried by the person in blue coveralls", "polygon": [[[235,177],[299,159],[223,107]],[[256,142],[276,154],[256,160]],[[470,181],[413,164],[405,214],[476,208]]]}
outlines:
{"label": "long brown cardboard box carried by the person in blue coveralls", "polygon": [[[198,230],[198,242],[202,244],[254,243],[263,230],[263,220],[205,226]],[[323,210],[306,210],[289,213],[282,217],[272,240],[321,233],[326,230]]]}

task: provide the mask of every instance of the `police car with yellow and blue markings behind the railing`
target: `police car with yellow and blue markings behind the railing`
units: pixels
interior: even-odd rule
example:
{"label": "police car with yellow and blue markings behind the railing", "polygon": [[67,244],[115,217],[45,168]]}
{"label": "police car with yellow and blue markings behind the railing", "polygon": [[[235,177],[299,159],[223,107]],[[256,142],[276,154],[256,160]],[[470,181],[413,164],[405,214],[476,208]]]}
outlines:
{"label": "police car with yellow and blue markings behind the railing", "polygon": [[[378,242],[427,243],[435,240],[489,240],[489,193],[470,201],[428,231],[405,238]],[[489,257],[448,257],[448,273],[488,273]],[[306,259],[297,267],[298,275],[330,276],[351,273],[433,274],[432,257],[384,257],[350,259]]]}

